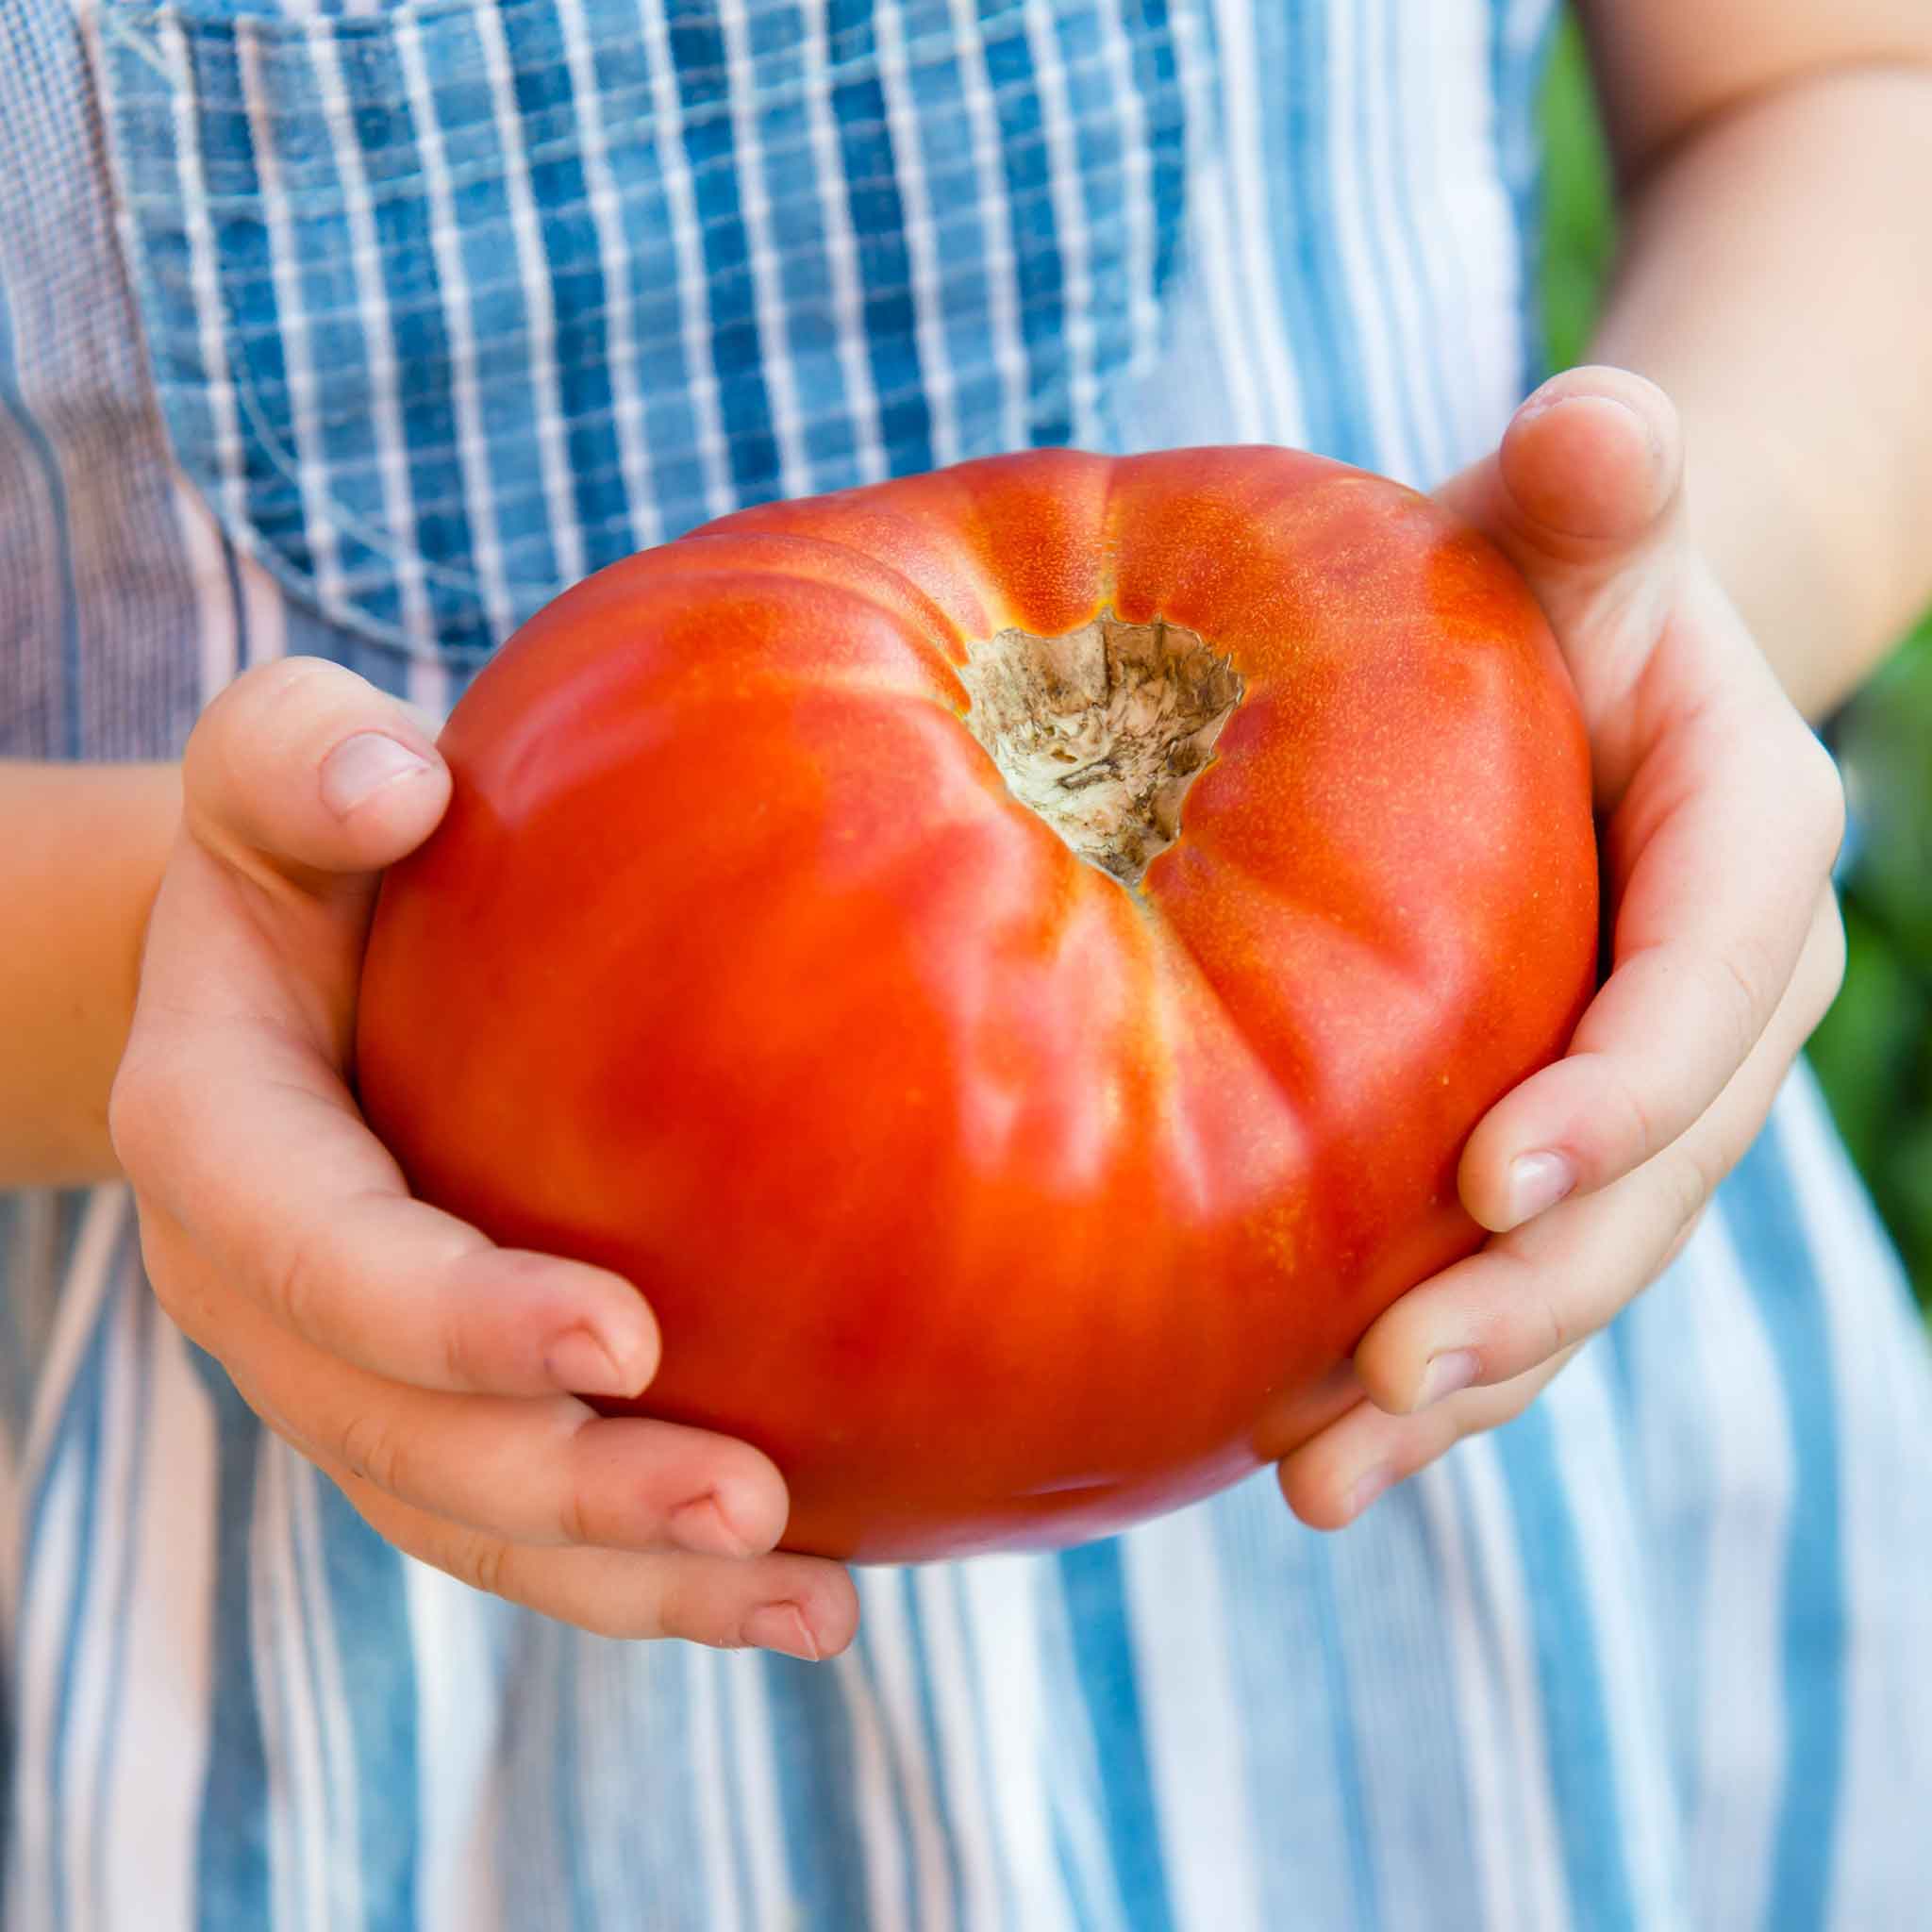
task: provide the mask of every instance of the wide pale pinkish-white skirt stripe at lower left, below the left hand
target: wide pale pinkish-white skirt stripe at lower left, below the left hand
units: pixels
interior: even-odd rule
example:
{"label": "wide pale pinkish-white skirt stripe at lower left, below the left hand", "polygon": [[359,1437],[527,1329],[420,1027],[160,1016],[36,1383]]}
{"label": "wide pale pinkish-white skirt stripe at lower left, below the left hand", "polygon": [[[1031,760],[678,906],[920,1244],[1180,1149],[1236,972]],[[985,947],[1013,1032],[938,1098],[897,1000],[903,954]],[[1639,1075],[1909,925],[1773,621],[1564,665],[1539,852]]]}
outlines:
{"label": "wide pale pinkish-white skirt stripe at lower left, below the left hand", "polygon": [[[145,1293],[135,1283],[135,1293]],[[214,1410],[172,1321],[149,1321],[147,1453],[131,1515],[133,1596],[104,1814],[102,1926],[189,1932],[214,1710]],[[236,1667],[240,1660],[222,1660]],[[23,1920],[31,1922],[31,1920]]]}

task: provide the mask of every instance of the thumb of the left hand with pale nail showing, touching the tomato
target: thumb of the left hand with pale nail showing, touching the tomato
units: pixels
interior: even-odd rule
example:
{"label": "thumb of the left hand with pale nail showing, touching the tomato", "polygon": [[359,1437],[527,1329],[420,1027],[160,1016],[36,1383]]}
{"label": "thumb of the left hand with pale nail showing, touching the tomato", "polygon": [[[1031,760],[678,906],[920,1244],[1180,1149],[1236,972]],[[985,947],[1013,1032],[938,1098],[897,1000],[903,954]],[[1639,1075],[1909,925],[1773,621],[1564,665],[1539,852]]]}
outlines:
{"label": "thumb of the left hand with pale nail showing, touching the tomato", "polygon": [[203,711],[182,792],[187,829],[211,850],[309,885],[419,846],[450,773],[398,699],[327,659],[290,657],[236,678]]}

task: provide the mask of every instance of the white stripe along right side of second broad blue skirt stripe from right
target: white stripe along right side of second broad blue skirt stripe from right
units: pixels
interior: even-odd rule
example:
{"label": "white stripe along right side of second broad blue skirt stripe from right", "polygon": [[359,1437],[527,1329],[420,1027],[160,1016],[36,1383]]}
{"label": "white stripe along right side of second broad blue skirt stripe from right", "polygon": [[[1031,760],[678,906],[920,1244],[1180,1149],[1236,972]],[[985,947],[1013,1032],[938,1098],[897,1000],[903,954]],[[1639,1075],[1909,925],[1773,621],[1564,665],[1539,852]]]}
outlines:
{"label": "white stripe along right side of second broad blue skirt stripe from right", "polygon": [[[1557,1387],[1542,1401],[1555,1437],[1563,1490],[1577,1519],[1604,1708],[1609,1714],[1609,1756],[1631,1905],[1640,1926],[1675,1926],[1685,1922],[1685,1872],[1669,1779],[1662,1660],[1652,1648],[1650,1615],[1656,1596],[1648,1555],[1631,1517],[1627,1464],[1617,1443],[1619,1422],[1605,1372],[1607,1345],[1598,1343],[1563,1372]],[[1731,1364],[1714,1387],[1735,1376],[1737,1366]],[[1727,1911],[1735,1911],[1735,1895]]]}

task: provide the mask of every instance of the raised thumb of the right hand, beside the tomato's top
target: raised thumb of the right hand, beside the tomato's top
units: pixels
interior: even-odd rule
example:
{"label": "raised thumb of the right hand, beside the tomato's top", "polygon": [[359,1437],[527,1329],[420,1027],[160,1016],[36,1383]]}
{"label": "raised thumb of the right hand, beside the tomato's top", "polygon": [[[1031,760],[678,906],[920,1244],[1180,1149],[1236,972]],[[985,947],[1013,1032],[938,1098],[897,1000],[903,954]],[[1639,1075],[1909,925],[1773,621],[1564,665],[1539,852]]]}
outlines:
{"label": "raised thumb of the right hand, beside the tomato's top", "polygon": [[1435,497],[1503,549],[1561,636],[1613,578],[1683,539],[1677,410],[1629,369],[1565,369]]}

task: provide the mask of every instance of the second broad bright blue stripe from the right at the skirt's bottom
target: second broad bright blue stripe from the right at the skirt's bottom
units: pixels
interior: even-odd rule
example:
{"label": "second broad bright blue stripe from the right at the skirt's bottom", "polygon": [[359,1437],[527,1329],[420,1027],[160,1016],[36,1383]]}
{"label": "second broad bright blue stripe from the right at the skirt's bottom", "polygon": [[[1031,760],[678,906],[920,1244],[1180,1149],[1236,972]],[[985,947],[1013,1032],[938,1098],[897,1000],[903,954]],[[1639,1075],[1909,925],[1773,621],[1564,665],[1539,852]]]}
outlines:
{"label": "second broad bright blue stripe from the right at the skirt's bottom", "polygon": [[1623,1857],[1623,1804],[1611,1760],[1596,1615],[1584,1582],[1577,1519],[1557,1472],[1555,1426],[1544,1405],[1492,1437],[1517,1524],[1544,1708],[1557,1832],[1571,1909],[1592,1932],[1636,1924]]}

